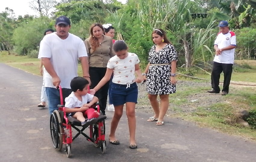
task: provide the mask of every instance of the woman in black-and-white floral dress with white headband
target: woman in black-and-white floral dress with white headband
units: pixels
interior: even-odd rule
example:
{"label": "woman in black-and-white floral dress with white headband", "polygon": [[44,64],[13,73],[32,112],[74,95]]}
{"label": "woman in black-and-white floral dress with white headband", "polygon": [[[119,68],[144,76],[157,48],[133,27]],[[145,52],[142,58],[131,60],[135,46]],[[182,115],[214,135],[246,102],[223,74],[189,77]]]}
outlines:
{"label": "woman in black-and-white floral dress with white headband", "polygon": [[[152,32],[152,41],[155,44],[148,53],[148,65],[145,69],[144,79],[147,76],[147,92],[155,115],[147,121],[164,124],[164,116],[169,106],[169,94],[176,92],[176,50],[167,39],[162,29]],[[160,97],[159,104],[157,97]],[[159,107],[160,105],[160,107]]]}

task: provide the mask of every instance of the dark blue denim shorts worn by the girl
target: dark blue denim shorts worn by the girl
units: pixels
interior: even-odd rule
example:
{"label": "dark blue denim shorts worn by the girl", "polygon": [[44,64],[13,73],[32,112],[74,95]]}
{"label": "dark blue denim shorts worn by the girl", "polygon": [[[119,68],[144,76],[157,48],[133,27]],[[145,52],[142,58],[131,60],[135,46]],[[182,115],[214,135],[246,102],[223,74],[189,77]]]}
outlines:
{"label": "dark blue denim shorts worn by the girl", "polygon": [[136,82],[130,84],[130,87],[123,84],[112,83],[111,97],[113,99],[113,105],[123,105],[126,102],[134,102],[137,104],[138,99],[138,86]]}

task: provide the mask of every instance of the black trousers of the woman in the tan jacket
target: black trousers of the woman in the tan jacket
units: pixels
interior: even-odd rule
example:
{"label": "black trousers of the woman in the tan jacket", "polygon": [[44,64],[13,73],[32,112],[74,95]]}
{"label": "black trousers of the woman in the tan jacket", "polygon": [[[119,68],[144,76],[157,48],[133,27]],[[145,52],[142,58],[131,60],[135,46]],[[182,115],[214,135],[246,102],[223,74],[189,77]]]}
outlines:
{"label": "black trousers of the woman in the tan jacket", "polygon": [[[92,82],[90,89],[94,88],[100,82],[100,80],[105,76],[106,70],[107,67],[89,67],[89,74]],[[108,87],[109,82],[103,85],[103,87],[101,87],[94,95],[99,99],[99,106],[102,113],[105,113],[107,106]]]}

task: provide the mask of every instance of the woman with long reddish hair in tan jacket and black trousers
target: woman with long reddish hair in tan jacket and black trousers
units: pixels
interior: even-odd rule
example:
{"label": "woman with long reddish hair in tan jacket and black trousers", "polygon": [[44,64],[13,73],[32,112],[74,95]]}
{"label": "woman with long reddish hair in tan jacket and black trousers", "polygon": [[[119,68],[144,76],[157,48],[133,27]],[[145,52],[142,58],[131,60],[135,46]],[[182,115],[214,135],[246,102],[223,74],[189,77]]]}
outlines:
{"label": "woman with long reddish hair in tan jacket and black trousers", "polygon": [[[112,52],[112,38],[103,33],[103,26],[99,23],[94,23],[90,28],[89,38],[84,41],[89,59],[90,75],[84,77],[90,77],[92,82],[90,89],[93,89],[105,76],[108,60],[114,56]],[[108,87],[109,82],[95,93],[95,96],[99,99],[100,110],[103,115],[106,115],[105,109],[108,98]]]}

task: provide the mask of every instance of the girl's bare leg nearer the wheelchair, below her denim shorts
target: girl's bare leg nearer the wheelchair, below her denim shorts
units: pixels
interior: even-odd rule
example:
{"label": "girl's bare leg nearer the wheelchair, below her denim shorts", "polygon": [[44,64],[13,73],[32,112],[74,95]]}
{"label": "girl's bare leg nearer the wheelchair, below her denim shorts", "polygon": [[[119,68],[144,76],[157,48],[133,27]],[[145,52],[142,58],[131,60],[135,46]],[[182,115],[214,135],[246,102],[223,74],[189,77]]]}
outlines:
{"label": "girl's bare leg nearer the wheelchair, below her denim shorts", "polygon": [[111,121],[110,134],[109,134],[109,141],[111,142],[117,140],[115,137],[115,132],[117,129],[117,125],[123,115],[123,105],[114,106],[114,108],[115,108],[115,113]]}

